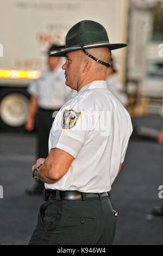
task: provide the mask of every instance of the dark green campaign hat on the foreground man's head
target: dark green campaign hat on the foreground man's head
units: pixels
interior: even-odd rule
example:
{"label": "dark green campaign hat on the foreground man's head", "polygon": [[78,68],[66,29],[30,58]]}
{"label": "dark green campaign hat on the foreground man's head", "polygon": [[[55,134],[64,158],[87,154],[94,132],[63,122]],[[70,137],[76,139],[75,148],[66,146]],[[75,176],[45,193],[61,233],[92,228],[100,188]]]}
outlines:
{"label": "dark green campaign hat on the foreground man's head", "polygon": [[109,47],[116,50],[127,44],[110,44],[106,29],[95,21],[84,20],[74,25],[66,35],[66,46],[60,51],[51,51],[49,56],[64,57],[68,52],[89,48]]}

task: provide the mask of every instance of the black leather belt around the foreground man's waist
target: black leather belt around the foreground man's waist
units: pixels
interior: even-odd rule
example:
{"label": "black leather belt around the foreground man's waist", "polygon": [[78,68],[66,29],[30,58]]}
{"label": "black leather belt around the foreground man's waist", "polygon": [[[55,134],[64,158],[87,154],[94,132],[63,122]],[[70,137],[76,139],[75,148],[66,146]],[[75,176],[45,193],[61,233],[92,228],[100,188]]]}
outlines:
{"label": "black leather belt around the foreground man's waist", "polygon": [[84,193],[79,191],[43,190],[43,200],[87,200],[109,198],[109,192]]}

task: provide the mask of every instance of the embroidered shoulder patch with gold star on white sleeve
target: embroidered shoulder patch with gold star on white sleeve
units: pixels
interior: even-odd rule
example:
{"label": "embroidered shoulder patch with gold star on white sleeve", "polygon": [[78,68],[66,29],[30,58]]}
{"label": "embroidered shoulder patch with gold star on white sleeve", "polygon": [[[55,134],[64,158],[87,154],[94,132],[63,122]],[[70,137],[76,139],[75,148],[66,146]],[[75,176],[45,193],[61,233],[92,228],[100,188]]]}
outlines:
{"label": "embroidered shoulder patch with gold star on white sleeve", "polygon": [[62,129],[71,129],[72,127],[74,127],[77,123],[78,118],[80,117],[80,114],[81,112],[65,108],[61,121]]}

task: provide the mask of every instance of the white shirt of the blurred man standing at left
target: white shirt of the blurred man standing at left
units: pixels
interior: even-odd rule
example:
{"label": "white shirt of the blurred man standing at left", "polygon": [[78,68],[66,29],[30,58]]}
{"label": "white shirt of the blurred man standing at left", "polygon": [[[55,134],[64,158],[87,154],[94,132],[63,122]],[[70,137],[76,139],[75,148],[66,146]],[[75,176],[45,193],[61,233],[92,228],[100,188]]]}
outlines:
{"label": "white shirt of the blurred man standing at left", "polygon": [[60,109],[72,92],[65,86],[65,75],[61,66],[54,71],[49,69],[42,71],[40,77],[29,84],[27,91],[37,97],[38,105],[44,109]]}

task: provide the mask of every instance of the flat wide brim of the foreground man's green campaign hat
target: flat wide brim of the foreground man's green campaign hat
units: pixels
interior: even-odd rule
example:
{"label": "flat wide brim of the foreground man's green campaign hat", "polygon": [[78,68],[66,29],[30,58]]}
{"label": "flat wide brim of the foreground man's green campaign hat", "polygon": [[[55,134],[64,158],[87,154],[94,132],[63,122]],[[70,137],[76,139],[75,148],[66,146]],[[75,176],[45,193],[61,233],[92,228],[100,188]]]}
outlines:
{"label": "flat wide brim of the foreground man's green campaign hat", "polygon": [[99,44],[91,44],[82,46],[73,46],[62,49],[61,51],[52,51],[49,56],[50,57],[65,57],[68,52],[80,51],[82,49],[91,49],[91,48],[100,48],[100,47],[108,47],[110,50],[116,50],[119,48],[126,47],[127,44],[109,44],[108,42],[103,42]]}

